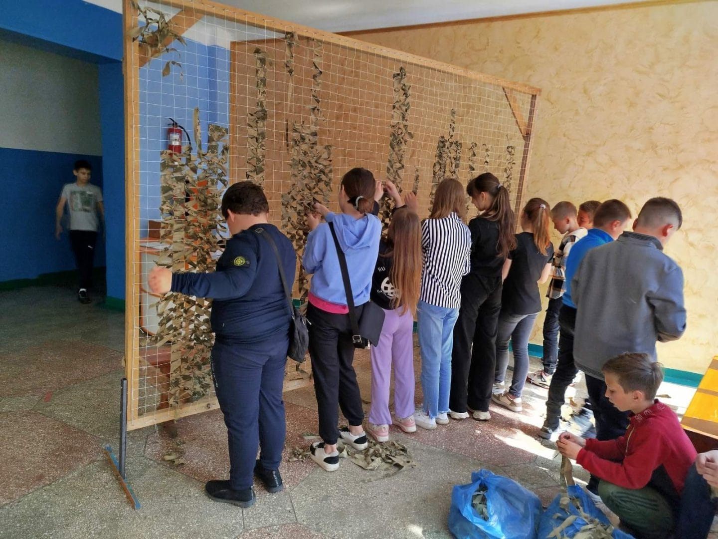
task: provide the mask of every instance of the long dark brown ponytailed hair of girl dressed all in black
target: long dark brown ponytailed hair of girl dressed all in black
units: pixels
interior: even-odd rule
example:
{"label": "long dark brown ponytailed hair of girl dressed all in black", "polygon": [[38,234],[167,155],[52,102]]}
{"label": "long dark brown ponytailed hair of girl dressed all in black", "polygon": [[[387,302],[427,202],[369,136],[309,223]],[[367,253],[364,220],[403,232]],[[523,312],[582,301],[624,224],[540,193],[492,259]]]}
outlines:
{"label": "long dark brown ponytailed hair of girl dressed all in black", "polygon": [[491,197],[491,206],[479,217],[498,224],[498,241],[496,243],[497,256],[508,257],[508,253],[516,249],[516,228],[511,201],[508,198],[508,189],[499,182],[491,172],[484,172],[466,186],[466,193],[474,198],[479,193],[488,193]]}

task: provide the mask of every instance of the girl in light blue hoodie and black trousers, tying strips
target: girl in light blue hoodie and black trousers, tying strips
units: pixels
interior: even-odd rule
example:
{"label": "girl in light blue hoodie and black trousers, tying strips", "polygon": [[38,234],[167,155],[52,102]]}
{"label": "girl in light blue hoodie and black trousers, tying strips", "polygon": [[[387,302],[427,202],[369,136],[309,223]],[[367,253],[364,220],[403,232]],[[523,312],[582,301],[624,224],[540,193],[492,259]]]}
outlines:
{"label": "girl in light blue hoodie and black trousers, tying strips", "polygon": [[[376,190],[377,183],[371,172],[353,168],[342,178],[339,192],[342,213],[332,213],[315,203],[314,210],[325,216],[327,223],[320,224],[319,217],[313,214],[307,216],[312,231],[307,237],[302,264],[308,273],[314,274],[309,288],[307,320],[322,438],[321,442],[312,443],[310,453],[326,471],[339,468],[337,441],[340,437],[355,449],[362,450],[368,445],[362,426],[364,411],[352,365],[354,344],[347,295],[329,223],[334,226],[347,259],[355,310],[360,318],[364,304],[369,301],[381,236],[381,222],[370,214]],[[337,428],[337,402],[349,423],[348,428],[342,430]]]}

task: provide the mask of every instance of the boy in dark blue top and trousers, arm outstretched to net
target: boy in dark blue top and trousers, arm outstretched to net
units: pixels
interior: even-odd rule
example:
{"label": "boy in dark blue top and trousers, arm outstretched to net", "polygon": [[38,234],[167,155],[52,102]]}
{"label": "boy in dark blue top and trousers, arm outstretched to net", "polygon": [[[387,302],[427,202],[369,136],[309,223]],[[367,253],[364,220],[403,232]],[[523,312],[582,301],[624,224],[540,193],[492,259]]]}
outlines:
{"label": "boy in dark blue top and trousers, arm outstretched to net", "polygon": [[[151,291],[213,298],[212,372],[229,438],[230,479],[205,485],[215,501],[249,507],[253,473],[269,492],[282,489],[279,463],[284,448],[284,366],[291,315],[270,236],[292,288],[297,256],[292,242],[267,222],[269,203],[251,182],[231,185],[222,214],[232,237],[213,273],[172,273],[156,267]],[[257,447],[260,459],[255,461]]]}

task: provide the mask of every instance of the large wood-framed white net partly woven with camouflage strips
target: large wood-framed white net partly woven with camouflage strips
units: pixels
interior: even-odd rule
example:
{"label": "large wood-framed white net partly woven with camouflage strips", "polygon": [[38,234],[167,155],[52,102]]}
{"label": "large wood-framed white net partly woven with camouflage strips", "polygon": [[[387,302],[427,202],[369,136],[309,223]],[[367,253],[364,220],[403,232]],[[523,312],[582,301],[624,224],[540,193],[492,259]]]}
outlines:
{"label": "large wood-framed white net partly woven with camouflage strips", "polygon": [[[196,381],[186,379],[192,369],[182,359],[183,351],[195,354],[191,350],[197,342],[190,343],[197,341],[195,325],[206,326],[201,304],[192,306],[193,321],[180,323],[185,336],[180,340],[189,345],[160,344],[159,298],[146,284],[151,267],[172,249],[172,241],[156,237],[156,223],[180,234],[182,224],[196,221],[190,213],[197,207],[197,188],[175,185],[175,198],[178,193],[185,198],[184,213],[167,213],[167,192],[163,206],[161,188],[167,178],[162,179],[161,170],[182,161],[182,167],[172,169],[181,178],[180,168],[182,174],[192,168],[185,166],[188,161],[199,163],[200,171],[208,160],[221,161],[221,152],[213,157],[208,146],[213,129],[219,129],[217,137],[226,131],[216,147],[227,147],[226,180],[263,183],[271,222],[293,239],[300,253],[304,231],[298,229],[303,228],[306,203],[318,198],[336,210],[340,179],[352,167],[396,180],[402,190],[416,190],[421,217],[429,213],[432,187],[444,177],[465,185],[481,172],[493,172],[507,185],[513,202],[520,202],[525,138],[519,124],[523,122],[524,133],[526,123],[531,125],[537,93],[531,88],[480,80],[325,32],[297,32],[269,17],[260,22],[202,1],[140,3],[140,8],[164,13],[185,43],[171,37],[162,41],[166,36],[159,35],[160,47],[167,50],[152,55],[135,42],[127,60],[131,103],[126,121],[134,147],[129,160],[133,196],[127,201],[132,218],[127,303],[134,321],[127,347],[131,426],[215,406],[211,384],[200,383],[208,390],[202,396],[202,387],[197,391]],[[134,15],[136,9],[129,12]],[[143,17],[133,22],[135,27],[143,23]],[[148,32],[139,41],[152,39]],[[195,109],[204,162],[197,156]],[[170,119],[186,128],[180,156],[162,153],[168,148]],[[223,186],[215,184],[210,175],[210,188],[221,195]],[[471,207],[469,216],[473,213]],[[187,237],[183,241],[192,244]],[[175,269],[190,270],[197,262],[187,260],[180,268],[179,259],[173,259]],[[295,292],[295,297],[302,294],[301,280]],[[200,378],[207,379],[208,356],[197,361]],[[192,384],[194,395],[188,389]]]}

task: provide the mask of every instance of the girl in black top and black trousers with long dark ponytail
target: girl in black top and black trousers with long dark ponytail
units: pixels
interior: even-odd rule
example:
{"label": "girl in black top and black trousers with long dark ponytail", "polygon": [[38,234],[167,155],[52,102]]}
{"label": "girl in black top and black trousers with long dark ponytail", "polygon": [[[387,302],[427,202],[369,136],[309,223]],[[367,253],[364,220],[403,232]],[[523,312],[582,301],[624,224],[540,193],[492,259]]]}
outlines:
{"label": "girl in black top and black trousers with long dark ponytail", "polygon": [[[471,270],[462,279],[461,307],[454,326],[449,408],[454,419],[488,420],[496,364],[495,339],[501,309],[501,270],[516,247],[508,190],[485,172],[466,191],[480,215],[469,221]],[[473,343],[473,348],[472,348]]]}

